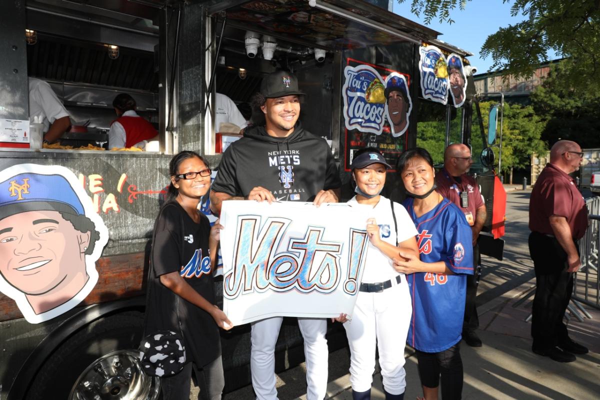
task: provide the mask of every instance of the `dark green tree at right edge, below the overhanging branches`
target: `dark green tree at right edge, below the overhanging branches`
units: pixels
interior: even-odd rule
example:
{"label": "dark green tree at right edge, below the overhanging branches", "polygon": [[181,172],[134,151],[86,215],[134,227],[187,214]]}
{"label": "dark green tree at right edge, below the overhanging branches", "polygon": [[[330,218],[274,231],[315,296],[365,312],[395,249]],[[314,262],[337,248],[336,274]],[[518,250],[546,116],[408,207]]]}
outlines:
{"label": "dark green tree at right edge, below the overhanging branches", "polygon": [[544,124],[542,139],[574,140],[582,148],[600,148],[600,94],[566,84],[571,61],[553,65],[550,75],[533,91],[532,106]]}

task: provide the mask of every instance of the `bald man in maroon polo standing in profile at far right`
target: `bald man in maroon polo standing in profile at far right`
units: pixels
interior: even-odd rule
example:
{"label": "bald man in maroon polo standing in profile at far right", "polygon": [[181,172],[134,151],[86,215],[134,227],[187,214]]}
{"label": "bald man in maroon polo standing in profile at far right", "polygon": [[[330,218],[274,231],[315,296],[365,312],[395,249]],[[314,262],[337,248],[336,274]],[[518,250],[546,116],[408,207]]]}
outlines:
{"label": "bald man in maroon polo standing in profile at far right", "polygon": [[563,323],[573,291],[573,273],[581,267],[577,240],[587,229],[586,203],[569,173],[581,165],[580,146],[559,140],[535,182],[529,201],[529,253],[535,267],[532,351],[559,362],[575,361],[587,348],[569,338]]}

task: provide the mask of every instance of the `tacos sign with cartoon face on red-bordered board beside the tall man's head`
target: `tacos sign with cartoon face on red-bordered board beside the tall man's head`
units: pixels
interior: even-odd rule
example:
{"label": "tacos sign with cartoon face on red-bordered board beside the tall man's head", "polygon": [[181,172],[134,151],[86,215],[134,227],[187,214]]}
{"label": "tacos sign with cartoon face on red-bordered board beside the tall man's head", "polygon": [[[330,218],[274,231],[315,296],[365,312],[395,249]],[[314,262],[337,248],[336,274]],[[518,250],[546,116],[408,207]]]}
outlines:
{"label": "tacos sign with cartoon face on red-bordered board beside the tall man's head", "polygon": [[[392,72],[385,79],[370,65],[344,68],[344,123],[347,130],[381,134],[385,118],[394,137],[406,132],[412,100],[403,74]],[[388,110],[391,98],[392,110]]]}

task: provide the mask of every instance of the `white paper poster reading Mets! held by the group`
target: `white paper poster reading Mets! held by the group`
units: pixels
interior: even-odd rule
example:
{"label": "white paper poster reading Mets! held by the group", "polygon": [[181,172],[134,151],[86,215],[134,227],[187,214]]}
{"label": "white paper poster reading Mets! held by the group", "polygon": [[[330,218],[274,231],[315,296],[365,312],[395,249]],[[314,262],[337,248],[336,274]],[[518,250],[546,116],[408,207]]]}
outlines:
{"label": "white paper poster reading Mets! held by the group", "polygon": [[367,255],[367,216],[347,204],[224,201],[223,311],[269,317],[352,315]]}

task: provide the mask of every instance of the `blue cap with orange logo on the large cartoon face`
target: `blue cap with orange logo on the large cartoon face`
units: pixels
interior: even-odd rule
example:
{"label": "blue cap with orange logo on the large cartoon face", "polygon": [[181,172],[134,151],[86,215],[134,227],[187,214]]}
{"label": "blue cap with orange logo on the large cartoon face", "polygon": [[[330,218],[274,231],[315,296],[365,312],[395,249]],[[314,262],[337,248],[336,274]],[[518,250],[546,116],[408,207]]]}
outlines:
{"label": "blue cap with orange logo on the large cartoon face", "polygon": [[39,210],[85,215],[79,197],[62,175],[27,172],[0,183],[0,219]]}

